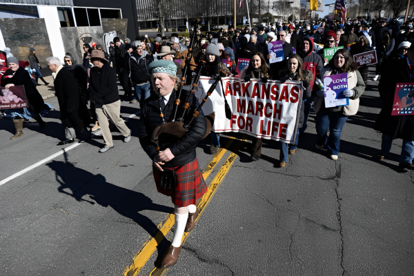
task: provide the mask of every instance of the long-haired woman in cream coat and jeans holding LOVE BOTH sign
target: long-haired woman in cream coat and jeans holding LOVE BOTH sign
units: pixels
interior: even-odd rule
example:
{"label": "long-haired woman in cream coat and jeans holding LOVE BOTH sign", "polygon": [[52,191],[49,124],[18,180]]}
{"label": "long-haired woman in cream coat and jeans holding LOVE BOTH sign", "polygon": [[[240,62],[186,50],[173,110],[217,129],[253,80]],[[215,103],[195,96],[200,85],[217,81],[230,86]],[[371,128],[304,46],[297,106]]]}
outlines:
{"label": "long-haired woman in cream coat and jeans holding LOVE BOTH sign", "polygon": [[313,110],[317,113],[315,148],[327,146],[328,155],[333,160],[338,159],[342,128],[344,128],[348,116],[357,114],[359,97],[365,91],[364,80],[359,74],[351,53],[347,49],[339,49],[329,61],[328,66],[322,70],[321,76],[327,77],[344,72],[348,75],[348,88],[343,92],[345,97],[349,97],[348,106],[325,108],[324,90],[317,90],[315,93],[317,97],[313,101]]}

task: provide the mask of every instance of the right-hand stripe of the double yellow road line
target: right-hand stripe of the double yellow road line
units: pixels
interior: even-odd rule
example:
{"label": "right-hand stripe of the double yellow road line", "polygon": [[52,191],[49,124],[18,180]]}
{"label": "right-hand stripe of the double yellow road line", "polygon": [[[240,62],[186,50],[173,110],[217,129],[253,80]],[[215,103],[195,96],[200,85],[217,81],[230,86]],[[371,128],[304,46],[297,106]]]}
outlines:
{"label": "right-hand stripe of the double yellow road line", "polygon": [[[246,140],[242,140],[242,141],[246,141]],[[239,146],[241,146],[241,144],[239,144]],[[236,148],[238,148],[238,147],[236,147]],[[237,151],[237,150],[235,150],[235,151]],[[230,153],[230,155],[228,156],[226,161],[224,161],[224,164],[221,166],[219,172],[217,172],[217,175],[215,175],[214,179],[211,181],[210,185],[208,186],[207,192],[203,195],[203,197],[201,197],[199,203],[197,204],[197,208],[199,210],[199,215],[195,219],[195,223],[197,223],[197,221],[201,217],[201,214],[203,213],[204,209],[208,206],[211,199],[213,198],[213,195],[215,195],[215,193],[217,192],[217,189],[219,188],[219,186],[223,182],[224,177],[226,177],[226,175],[227,175],[228,171],[230,170],[231,166],[233,166],[233,163],[235,162],[236,157],[237,157],[237,154],[235,154],[234,152]],[[184,243],[186,242],[186,239],[187,239],[187,237],[190,233],[191,232],[184,233],[183,238],[181,239],[181,245],[184,245]],[[152,273],[154,273],[155,271],[157,271],[157,267],[152,269],[152,271],[150,273],[150,276],[153,276]],[[165,276],[167,274],[167,271],[168,271],[168,268],[162,270],[161,274],[159,274],[159,275],[160,276]]]}

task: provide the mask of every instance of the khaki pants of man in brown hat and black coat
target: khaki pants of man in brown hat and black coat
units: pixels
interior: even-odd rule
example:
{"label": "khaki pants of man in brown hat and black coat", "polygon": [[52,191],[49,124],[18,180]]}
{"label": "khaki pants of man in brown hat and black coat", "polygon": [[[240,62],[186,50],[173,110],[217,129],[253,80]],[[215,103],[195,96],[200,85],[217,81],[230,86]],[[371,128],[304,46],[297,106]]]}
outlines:
{"label": "khaki pants of man in brown hat and black coat", "polygon": [[119,117],[121,114],[121,100],[115,101],[115,103],[104,104],[101,108],[95,108],[95,111],[97,112],[97,119],[107,148],[114,146],[108,119],[117,126],[124,137],[130,134],[130,129],[126,126],[124,120]]}

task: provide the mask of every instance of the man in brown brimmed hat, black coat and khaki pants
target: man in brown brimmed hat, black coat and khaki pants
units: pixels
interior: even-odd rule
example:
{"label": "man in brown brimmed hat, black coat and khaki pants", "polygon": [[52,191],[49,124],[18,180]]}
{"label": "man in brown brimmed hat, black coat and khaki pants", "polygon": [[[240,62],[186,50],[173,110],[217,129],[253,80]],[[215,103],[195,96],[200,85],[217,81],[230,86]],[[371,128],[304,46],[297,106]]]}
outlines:
{"label": "man in brown brimmed hat, black coat and khaki pants", "polygon": [[102,51],[92,50],[90,60],[95,66],[90,70],[90,98],[95,101],[95,112],[106,143],[105,147],[101,148],[99,152],[106,152],[114,148],[109,120],[124,135],[124,142],[130,141],[131,131],[120,116],[121,100],[119,99],[117,75],[110,67],[108,59],[105,59]]}

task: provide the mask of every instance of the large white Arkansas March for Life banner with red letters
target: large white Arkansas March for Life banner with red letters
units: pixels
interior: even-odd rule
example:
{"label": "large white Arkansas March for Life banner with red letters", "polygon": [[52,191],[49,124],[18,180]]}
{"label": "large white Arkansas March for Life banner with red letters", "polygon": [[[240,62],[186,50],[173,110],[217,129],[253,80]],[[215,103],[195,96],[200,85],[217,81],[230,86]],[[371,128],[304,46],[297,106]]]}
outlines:
{"label": "large white Arkansas March for Life banner with red letters", "polygon": [[[200,77],[195,96],[199,102],[215,81]],[[203,106],[204,114],[215,112],[215,132],[242,132],[262,139],[293,143],[302,103],[302,83],[299,81],[242,81],[235,77],[222,79],[221,84]],[[224,95],[223,95],[224,91]],[[224,97],[232,110],[226,118]]]}

